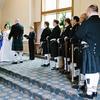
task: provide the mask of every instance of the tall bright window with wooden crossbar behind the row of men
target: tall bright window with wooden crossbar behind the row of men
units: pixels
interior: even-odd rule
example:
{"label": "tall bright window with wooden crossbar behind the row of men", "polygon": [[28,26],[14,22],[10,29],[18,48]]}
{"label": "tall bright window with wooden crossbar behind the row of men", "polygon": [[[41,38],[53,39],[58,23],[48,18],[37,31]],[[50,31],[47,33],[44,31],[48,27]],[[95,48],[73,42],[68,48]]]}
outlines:
{"label": "tall bright window with wooden crossbar behind the row of men", "polygon": [[66,18],[72,16],[72,0],[42,0],[42,28],[44,21],[50,23],[50,28],[53,28],[53,20],[60,19],[65,14]]}

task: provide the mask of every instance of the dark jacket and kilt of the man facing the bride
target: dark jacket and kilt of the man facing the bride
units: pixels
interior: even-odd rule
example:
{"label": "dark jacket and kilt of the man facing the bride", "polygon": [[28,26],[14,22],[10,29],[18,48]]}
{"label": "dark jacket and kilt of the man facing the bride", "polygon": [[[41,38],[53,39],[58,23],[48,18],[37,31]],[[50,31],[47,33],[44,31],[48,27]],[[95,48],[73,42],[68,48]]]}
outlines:
{"label": "dark jacket and kilt of the man facing the bride", "polygon": [[23,33],[24,28],[19,23],[11,27],[11,32],[9,34],[9,40],[13,37],[12,50],[22,51],[23,50]]}

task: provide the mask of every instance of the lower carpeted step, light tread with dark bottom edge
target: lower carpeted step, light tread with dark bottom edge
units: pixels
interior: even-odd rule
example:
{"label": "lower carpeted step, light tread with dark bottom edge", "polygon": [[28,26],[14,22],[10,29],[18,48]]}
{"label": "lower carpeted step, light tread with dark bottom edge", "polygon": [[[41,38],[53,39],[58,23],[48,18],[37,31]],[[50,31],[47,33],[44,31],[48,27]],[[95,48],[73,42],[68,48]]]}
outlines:
{"label": "lower carpeted step, light tread with dark bottom edge", "polygon": [[[0,78],[7,85],[11,85],[15,89],[19,89],[22,92],[28,93],[30,96],[38,97],[40,100],[52,100],[52,98],[60,98],[61,100],[65,100],[63,94],[54,94],[48,90],[43,90],[42,87],[38,87],[28,81],[13,79],[4,74],[0,74]],[[66,97],[68,99],[69,96]],[[59,99],[59,100],[60,100]]]}

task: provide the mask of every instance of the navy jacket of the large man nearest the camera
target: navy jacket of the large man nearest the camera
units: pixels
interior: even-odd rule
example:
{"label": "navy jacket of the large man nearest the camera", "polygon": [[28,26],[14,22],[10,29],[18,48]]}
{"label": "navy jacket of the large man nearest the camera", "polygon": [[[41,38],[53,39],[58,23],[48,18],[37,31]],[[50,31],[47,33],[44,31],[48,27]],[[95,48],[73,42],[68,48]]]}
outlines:
{"label": "navy jacket of the large man nearest the camera", "polygon": [[76,32],[76,35],[88,43],[91,52],[100,55],[100,18],[98,15],[87,19]]}

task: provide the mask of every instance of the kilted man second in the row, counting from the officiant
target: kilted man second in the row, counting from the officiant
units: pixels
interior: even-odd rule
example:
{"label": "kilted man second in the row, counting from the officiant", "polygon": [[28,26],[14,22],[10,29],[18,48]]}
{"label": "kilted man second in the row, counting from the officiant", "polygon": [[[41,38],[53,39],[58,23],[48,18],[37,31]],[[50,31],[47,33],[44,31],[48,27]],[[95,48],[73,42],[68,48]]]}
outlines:
{"label": "kilted man second in the row, counting from the officiant", "polygon": [[60,38],[60,33],[61,33],[61,29],[59,27],[59,21],[58,20],[54,20],[53,21],[53,30],[50,34],[50,50],[51,50],[51,57],[53,57],[55,59],[55,67],[52,68],[52,70],[58,70],[59,69],[59,57],[58,57],[58,42],[57,39]]}

